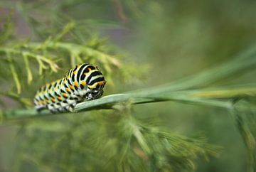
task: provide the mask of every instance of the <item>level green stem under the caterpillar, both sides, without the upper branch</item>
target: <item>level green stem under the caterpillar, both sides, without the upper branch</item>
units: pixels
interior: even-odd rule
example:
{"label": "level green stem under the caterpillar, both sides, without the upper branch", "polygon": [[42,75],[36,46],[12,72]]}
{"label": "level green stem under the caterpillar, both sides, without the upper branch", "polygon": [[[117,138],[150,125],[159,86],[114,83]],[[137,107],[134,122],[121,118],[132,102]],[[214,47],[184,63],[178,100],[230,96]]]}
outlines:
{"label": "level green stem under the caterpillar, both sides, without the upper branch", "polygon": [[[234,93],[237,91],[236,94]],[[139,91],[140,92],[140,91]],[[254,87],[243,87],[233,90],[189,90],[189,91],[177,91],[177,92],[162,92],[159,95],[154,95],[148,92],[146,95],[144,90],[143,94],[137,91],[116,94],[102,97],[97,100],[92,100],[89,102],[81,102],[75,106],[75,112],[82,112],[95,109],[117,109],[122,106],[123,103],[129,102],[131,104],[144,104],[149,102],[166,102],[175,101],[183,102],[189,104],[201,104],[213,107],[221,107],[225,109],[233,109],[233,102],[230,98],[235,99],[236,97],[242,97],[244,95],[256,95],[256,88]],[[218,99],[213,97],[213,92],[218,93]],[[207,96],[209,95],[209,96]],[[2,117],[4,119],[21,119],[26,117],[41,117],[46,115],[51,115],[50,112],[36,112],[35,109],[19,109],[19,110],[9,110],[2,112]],[[56,115],[56,114],[53,114]]]}

